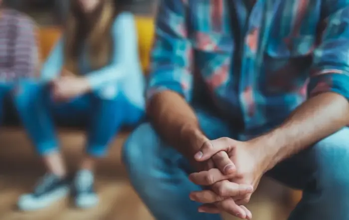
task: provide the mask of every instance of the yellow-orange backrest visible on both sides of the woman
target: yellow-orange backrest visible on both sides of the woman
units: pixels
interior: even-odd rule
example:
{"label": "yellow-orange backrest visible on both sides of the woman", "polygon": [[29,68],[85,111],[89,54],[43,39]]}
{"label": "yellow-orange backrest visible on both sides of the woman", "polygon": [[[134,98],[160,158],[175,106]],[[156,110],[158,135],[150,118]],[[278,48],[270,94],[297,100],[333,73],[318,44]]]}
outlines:
{"label": "yellow-orange backrest visible on both sides of the woman", "polygon": [[[153,45],[154,19],[151,17],[136,16],[138,31],[138,46],[140,60],[144,72],[147,72],[150,62],[150,50]],[[61,30],[55,26],[45,26],[39,29],[39,42],[41,57],[45,60],[52,47],[61,35]]]}

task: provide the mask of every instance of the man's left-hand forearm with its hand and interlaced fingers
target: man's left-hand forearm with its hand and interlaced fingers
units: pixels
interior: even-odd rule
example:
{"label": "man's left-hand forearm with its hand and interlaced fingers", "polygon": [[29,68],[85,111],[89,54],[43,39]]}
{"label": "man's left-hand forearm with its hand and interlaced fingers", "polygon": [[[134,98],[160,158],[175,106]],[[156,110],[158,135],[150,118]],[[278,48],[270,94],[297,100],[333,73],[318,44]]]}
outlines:
{"label": "man's left-hand forearm with its hand and interlaced fingers", "polygon": [[[200,161],[194,160],[194,153],[204,144],[210,143],[209,139],[201,132],[197,118],[191,107],[185,102],[184,98],[172,91],[163,91],[152,97],[148,105],[148,114],[152,124],[163,139],[171,146],[174,146],[180,153],[188,158],[197,171],[207,172],[212,168],[220,175],[233,177],[236,171],[235,165],[229,159],[228,154],[221,151],[213,155],[210,159]],[[211,183],[211,188],[219,189],[220,183]],[[253,191],[250,184],[236,184],[238,187],[235,192],[239,195],[249,195]],[[236,208],[246,216],[250,214],[244,206]],[[200,210],[199,210],[200,211]]]}

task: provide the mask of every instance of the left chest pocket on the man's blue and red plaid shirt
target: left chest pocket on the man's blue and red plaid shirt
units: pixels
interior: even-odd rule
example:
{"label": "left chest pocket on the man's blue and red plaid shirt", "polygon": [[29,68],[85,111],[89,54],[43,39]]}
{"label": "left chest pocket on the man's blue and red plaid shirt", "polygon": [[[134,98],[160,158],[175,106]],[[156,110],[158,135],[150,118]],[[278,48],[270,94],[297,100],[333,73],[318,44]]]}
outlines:
{"label": "left chest pocket on the man's blue and red plaid shirt", "polygon": [[214,89],[230,78],[234,40],[231,34],[196,31],[191,38],[194,67],[206,84]]}

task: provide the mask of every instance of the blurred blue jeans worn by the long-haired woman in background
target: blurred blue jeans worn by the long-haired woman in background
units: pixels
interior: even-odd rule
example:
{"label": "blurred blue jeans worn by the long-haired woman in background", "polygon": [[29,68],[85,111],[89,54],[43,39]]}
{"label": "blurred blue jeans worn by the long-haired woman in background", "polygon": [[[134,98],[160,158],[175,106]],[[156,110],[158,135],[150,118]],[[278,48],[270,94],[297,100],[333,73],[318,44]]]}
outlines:
{"label": "blurred blue jeans worn by the long-haired woman in background", "polygon": [[67,102],[54,102],[50,87],[38,82],[20,83],[13,100],[40,155],[58,151],[53,117],[58,120],[87,121],[86,151],[93,157],[102,157],[120,127],[136,125],[144,114],[123,94],[118,94],[114,99],[104,99],[91,92]]}

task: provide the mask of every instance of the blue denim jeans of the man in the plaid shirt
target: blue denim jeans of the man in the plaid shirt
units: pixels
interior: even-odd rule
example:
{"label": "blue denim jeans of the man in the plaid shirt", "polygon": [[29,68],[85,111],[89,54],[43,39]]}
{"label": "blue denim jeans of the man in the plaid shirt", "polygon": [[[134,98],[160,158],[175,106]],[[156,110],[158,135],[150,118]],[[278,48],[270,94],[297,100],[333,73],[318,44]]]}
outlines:
{"label": "blue denim jeans of the man in the plaid shirt", "polygon": [[[236,132],[205,111],[196,110],[210,139],[236,137]],[[123,160],[131,183],[157,220],[221,220],[198,213],[189,192],[201,188],[188,180],[193,169],[166,145],[149,123],[140,125],[124,145]],[[349,128],[278,164],[267,176],[304,191],[289,220],[348,220]]]}

